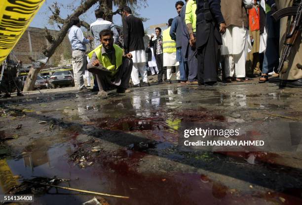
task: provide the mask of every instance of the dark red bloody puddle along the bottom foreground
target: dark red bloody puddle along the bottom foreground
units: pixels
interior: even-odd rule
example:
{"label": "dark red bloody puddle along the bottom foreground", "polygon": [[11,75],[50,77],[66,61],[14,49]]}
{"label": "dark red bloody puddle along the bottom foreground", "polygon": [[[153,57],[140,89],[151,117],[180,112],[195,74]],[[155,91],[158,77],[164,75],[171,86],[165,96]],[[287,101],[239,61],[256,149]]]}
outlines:
{"label": "dark red bloody puddle along the bottom foreground", "polygon": [[[166,145],[164,146],[166,147]],[[297,193],[270,193],[263,195],[245,195],[234,188],[214,181],[205,175],[169,173],[164,175],[139,174],[135,171],[135,163],[139,162],[146,153],[132,150],[120,150],[114,154],[100,158],[98,163],[85,169],[80,169],[69,161],[69,155],[76,150],[76,144],[71,142],[55,146],[35,145],[28,148],[22,158],[5,160],[6,168],[13,176],[32,178],[33,176],[57,176],[69,178],[73,188],[98,191],[130,197],[129,200],[105,197],[111,205],[229,205],[233,203],[246,205],[266,205],[268,202],[299,205],[301,190]],[[3,166],[3,164],[1,164]],[[20,181],[19,181],[20,183]],[[60,184],[67,186],[67,184]],[[3,184],[1,184],[4,189]],[[93,196],[81,195],[59,190],[55,194],[51,189],[48,194],[36,196],[33,205],[80,205]],[[1,190],[0,194],[3,194]],[[298,195],[298,196],[297,196]]]}

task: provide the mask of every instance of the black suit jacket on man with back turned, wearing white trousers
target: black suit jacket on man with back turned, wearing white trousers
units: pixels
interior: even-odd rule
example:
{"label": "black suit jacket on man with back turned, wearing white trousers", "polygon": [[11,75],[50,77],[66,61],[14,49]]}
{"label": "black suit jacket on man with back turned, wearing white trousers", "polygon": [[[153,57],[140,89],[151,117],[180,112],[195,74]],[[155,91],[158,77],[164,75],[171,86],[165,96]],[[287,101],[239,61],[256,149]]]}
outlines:
{"label": "black suit jacket on man with back turned, wearing white trousers", "polygon": [[125,53],[131,51],[145,50],[145,30],[142,20],[129,15],[123,18],[124,48]]}

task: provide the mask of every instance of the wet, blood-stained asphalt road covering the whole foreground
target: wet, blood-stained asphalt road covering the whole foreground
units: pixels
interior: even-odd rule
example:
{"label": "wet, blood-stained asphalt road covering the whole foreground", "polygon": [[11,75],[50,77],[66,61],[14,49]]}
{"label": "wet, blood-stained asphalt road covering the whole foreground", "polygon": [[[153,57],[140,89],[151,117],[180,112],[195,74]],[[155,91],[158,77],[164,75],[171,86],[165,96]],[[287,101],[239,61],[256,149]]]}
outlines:
{"label": "wet, blood-stained asphalt road covering the whole foreground", "polygon": [[[302,152],[183,152],[177,146],[179,122],[231,122],[253,135],[280,122],[298,123],[299,130],[300,89],[252,81],[152,85],[112,91],[106,99],[74,88],[42,92],[0,100],[0,137],[16,138],[1,144],[0,169],[19,176],[17,183],[58,176],[74,188],[130,197],[105,197],[111,205],[302,204]],[[251,154],[255,164],[247,161]],[[5,177],[0,194],[13,184]],[[33,204],[80,205],[93,198],[59,192],[36,196]]]}

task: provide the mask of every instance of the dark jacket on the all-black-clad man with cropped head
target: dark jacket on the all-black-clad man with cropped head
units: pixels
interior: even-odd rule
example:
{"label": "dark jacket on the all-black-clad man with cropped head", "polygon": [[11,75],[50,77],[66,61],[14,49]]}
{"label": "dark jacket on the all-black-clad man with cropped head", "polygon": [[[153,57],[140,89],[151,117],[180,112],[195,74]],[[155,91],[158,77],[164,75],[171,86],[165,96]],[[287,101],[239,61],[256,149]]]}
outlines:
{"label": "dark jacket on the all-black-clad man with cropped head", "polygon": [[210,29],[214,29],[214,37],[218,41],[219,45],[222,45],[222,37],[219,32],[219,24],[225,22],[225,19],[221,13],[220,0],[208,0],[210,12],[212,14],[213,21],[208,22],[204,15],[204,0],[196,0],[196,47],[202,47],[209,38]]}

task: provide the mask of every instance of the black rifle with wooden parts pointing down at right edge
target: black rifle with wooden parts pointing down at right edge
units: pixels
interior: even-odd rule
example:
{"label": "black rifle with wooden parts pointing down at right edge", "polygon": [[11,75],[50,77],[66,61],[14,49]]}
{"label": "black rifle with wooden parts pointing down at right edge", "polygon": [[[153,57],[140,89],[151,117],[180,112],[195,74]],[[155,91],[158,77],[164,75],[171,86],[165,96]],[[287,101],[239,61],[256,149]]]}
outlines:
{"label": "black rifle with wooden parts pointing down at right edge", "polygon": [[287,30],[286,37],[283,43],[283,54],[282,58],[280,60],[278,68],[274,68],[275,73],[280,73],[280,71],[283,68],[283,65],[285,62],[288,61],[288,57],[291,53],[291,50],[293,46],[295,45],[295,42],[298,38],[298,36],[301,35],[301,27],[302,27],[302,1],[298,6],[291,6],[287,8],[283,8],[279,11],[276,11],[273,13],[272,18],[275,21],[278,21],[279,19],[282,19],[284,17],[295,17],[293,18],[293,21],[291,22],[290,28]]}

